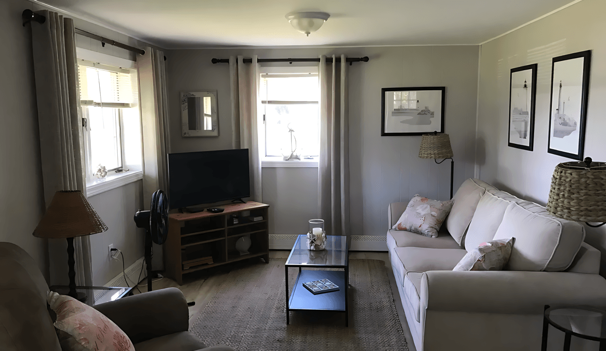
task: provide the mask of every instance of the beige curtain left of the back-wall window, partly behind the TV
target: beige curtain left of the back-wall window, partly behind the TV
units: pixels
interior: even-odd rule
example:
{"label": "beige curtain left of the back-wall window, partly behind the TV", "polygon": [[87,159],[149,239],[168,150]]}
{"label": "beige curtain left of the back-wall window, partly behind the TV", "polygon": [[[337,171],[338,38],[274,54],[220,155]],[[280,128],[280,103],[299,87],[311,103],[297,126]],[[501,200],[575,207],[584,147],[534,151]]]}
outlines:
{"label": "beige curtain left of the back-wall window, partly behind the TV", "polygon": [[261,156],[259,154],[259,63],[244,63],[244,56],[231,56],[231,126],[233,149],[248,149],[250,163],[250,196],[263,202],[261,190]]}

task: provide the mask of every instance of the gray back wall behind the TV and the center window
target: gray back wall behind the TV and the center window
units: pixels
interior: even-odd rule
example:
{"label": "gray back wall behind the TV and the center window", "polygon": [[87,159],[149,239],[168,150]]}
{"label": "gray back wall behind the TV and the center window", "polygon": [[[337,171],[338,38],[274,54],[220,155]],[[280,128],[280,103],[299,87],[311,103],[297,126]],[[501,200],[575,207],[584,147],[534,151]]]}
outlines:
{"label": "gray back wall behind the TV and the center window", "polygon": [[[445,130],[451,135],[455,191],[473,176],[478,87],[478,47],[373,47],[305,49],[216,49],[168,51],[171,152],[231,148],[229,68],[210,60],[230,55],[261,58],[345,54],[370,57],[348,66],[351,229],[354,235],[385,235],[387,205],[421,193],[447,199],[448,163],[418,158],[421,137],[381,137],[381,88],[446,86]],[[294,64],[293,64],[294,65]],[[218,91],[219,137],[181,137],[179,91]],[[264,169],[263,201],[273,208],[272,234],[307,230],[317,215],[316,169]],[[302,210],[302,209],[305,210]]]}

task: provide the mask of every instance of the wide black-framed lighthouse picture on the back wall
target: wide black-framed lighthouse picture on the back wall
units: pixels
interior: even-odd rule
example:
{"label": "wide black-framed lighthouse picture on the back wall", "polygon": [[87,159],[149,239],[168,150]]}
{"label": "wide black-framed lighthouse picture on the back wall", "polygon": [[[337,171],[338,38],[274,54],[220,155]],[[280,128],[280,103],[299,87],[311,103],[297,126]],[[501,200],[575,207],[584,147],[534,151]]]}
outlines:
{"label": "wide black-framed lighthouse picture on the back wall", "polygon": [[444,133],[444,86],[381,89],[381,136]]}

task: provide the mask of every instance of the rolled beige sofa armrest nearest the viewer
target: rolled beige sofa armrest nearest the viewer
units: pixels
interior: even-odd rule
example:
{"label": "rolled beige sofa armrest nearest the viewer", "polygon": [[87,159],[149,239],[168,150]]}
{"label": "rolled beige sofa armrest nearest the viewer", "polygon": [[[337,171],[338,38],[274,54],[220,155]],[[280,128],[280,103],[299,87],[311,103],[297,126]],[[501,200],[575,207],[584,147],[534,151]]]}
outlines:
{"label": "rolled beige sofa armrest nearest the viewer", "polygon": [[421,313],[542,314],[545,304],[606,306],[606,279],[527,271],[429,271],[421,277]]}

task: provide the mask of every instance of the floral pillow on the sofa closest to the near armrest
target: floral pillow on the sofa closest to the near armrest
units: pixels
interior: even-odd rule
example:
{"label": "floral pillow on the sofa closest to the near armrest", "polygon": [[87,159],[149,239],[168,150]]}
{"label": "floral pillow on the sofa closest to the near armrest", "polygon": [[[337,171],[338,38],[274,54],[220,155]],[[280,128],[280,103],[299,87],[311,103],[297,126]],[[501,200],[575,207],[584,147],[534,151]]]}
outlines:
{"label": "floral pillow on the sofa closest to the near armrest", "polygon": [[483,242],[470,250],[453,271],[502,271],[511,256],[515,238]]}

